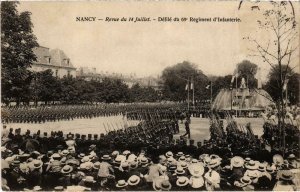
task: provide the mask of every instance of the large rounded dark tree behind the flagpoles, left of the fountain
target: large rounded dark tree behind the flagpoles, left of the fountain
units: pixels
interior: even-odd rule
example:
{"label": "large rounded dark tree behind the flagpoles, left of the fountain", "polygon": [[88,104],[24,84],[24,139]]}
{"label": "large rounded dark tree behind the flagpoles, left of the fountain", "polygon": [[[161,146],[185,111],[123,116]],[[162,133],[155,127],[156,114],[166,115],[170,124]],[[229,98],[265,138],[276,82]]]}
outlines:
{"label": "large rounded dark tree behind the flagpoles, left of the fountain", "polygon": [[162,73],[162,81],[162,94],[166,100],[185,101],[187,99],[186,85],[191,84],[192,81],[195,98],[197,100],[209,98],[209,92],[205,89],[209,83],[207,76],[198,70],[195,64],[188,61],[165,68]]}

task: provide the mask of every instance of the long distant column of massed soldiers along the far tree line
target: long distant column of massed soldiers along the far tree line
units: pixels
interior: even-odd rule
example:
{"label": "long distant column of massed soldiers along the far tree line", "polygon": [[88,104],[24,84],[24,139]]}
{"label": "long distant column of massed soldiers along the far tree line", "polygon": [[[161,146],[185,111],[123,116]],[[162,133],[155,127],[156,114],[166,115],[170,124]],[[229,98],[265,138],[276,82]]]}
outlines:
{"label": "long distant column of massed soldiers along the far tree line", "polygon": [[[52,105],[37,107],[2,107],[3,123],[44,123],[47,121],[73,120],[74,118],[95,118],[104,116],[126,115],[130,113],[132,119],[145,116],[146,113],[170,115],[176,111],[176,116],[186,110],[183,104],[98,104],[98,105]],[[198,106],[190,110],[195,117],[205,117],[208,109]]]}

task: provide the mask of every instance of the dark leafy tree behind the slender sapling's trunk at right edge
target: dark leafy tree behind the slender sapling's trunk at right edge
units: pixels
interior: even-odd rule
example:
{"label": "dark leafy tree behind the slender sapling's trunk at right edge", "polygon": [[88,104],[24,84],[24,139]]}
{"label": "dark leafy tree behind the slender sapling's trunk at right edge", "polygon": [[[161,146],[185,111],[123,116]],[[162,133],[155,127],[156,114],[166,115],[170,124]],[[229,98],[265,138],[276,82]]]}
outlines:
{"label": "dark leafy tree behind the slender sapling's trunk at right edge", "polygon": [[[283,65],[282,67],[286,67]],[[292,74],[288,77],[288,83],[287,83],[287,99],[290,101],[290,104],[297,104],[299,101],[299,74],[293,73],[291,67],[288,67],[288,73]],[[272,68],[269,75],[268,75],[268,81],[266,85],[264,86],[264,89],[271,95],[272,99],[274,101],[278,101],[280,99],[280,92],[278,92],[278,89],[280,89],[278,86],[279,82],[279,66],[276,65],[274,69]]]}

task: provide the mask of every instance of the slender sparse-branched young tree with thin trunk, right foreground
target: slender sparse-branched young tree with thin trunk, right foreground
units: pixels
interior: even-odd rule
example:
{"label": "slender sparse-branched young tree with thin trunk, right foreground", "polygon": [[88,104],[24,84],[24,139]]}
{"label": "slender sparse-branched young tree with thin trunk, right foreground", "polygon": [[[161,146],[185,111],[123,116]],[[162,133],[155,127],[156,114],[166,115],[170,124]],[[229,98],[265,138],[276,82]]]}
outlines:
{"label": "slender sparse-branched young tree with thin trunk, right foreground", "polygon": [[[248,37],[246,39],[254,43],[256,50],[253,50],[252,56],[260,58],[267,63],[272,70],[278,71],[276,89],[278,98],[275,100],[278,110],[278,126],[283,138],[282,147],[285,149],[285,93],[284,86],[286,80],[291,76],[289,67],[292,64],[293,57],[298,49],[298,28],[295,19],[294,8],[291,2],[271,1],[270,9],[263,12],[263,19],[258,20],[260,33],[268,33],[268,39],[259,42],[257,38]],[[299,56],[298,56],[299,57]],[[297,64],[299,65],[299,63]],[[277,67],[276,67],[277,66]]]}

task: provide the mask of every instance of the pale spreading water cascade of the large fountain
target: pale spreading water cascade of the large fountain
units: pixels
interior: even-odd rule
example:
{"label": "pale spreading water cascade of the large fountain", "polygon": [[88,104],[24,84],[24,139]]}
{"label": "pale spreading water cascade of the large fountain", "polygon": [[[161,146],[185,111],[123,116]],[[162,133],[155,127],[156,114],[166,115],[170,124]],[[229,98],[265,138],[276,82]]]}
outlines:
{"label": "pale spreading water cascade of the large fountain", "polygon": [[212,109],[230,110],[231,102],[235,103],[232,106],[234,110],[264,110],[273,105],[271,96],[263,89],[222,89],[215,98]]}

